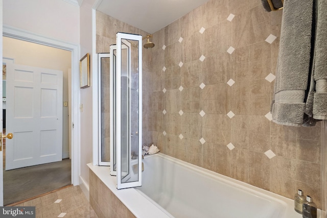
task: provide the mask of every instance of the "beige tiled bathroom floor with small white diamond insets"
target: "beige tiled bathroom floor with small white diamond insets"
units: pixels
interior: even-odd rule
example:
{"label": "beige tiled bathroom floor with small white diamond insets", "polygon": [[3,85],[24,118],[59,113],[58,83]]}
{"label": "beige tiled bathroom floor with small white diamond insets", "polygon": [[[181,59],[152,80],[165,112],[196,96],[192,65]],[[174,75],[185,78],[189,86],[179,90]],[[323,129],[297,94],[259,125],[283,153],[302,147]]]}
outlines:
{"label": "beige tiled bathroom floor with small white diamond insets", "polygon": [[16,206],[35,206],[36,218],[98,218],[79,186],[70,186]]}

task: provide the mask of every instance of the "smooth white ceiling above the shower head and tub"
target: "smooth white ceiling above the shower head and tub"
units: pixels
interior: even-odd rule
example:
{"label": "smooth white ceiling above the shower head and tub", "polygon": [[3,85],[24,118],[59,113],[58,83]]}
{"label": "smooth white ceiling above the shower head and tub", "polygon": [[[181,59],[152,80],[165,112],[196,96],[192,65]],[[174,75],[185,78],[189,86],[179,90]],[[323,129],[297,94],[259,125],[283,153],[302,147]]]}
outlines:
{"label": "smooth white ceiling above the shower head and tub", "polygon": [[208,1],[103,0],[97,10],[152,34]]}

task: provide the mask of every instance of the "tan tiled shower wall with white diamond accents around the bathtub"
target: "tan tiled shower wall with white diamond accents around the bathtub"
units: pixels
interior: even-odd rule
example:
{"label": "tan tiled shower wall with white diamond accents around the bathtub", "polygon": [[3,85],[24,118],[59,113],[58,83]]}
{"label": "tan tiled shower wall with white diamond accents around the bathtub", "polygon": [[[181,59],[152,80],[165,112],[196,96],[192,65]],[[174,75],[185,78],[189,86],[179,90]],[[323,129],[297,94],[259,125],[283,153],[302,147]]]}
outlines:
{"label": "tan tiled shower wall with white diamond accents around the bathtub", "polygon": [[[291,199],[301,188],[321,207],[320,123],[270,121],[281,22],[261,0],[211,0],[154,33],[143,52],[143,142]],[[98,53],[118,31],[146,35],[97,12]]]}

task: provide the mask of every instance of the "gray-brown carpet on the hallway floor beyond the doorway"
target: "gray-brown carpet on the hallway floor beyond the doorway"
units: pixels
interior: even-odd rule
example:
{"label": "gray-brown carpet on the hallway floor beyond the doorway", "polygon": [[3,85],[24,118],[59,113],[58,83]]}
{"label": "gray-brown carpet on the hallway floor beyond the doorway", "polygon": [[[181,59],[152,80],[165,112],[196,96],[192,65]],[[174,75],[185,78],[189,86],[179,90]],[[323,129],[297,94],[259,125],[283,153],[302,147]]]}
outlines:
{"label": "gray-brown carpet on the hallway floor beyond the doorway", "polygon": [[4,171],[4,205],[29,199],[71,182],[71,159]]}

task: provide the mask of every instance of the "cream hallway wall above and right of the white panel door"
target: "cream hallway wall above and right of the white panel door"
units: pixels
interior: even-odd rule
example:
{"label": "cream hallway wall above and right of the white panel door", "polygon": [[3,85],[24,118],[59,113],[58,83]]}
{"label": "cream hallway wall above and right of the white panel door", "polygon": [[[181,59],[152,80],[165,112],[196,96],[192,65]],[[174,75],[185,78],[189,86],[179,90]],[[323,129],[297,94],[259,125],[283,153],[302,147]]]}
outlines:
{"label": "cream hallway wall above and right of the white panel door", "polygon": [[[3,56],[14,58],[15,64],[63,71],[63,101],[68,101],[68,68],[72,68],[72,53],[45,45],[3,37]],[[68,107],[63,107],[63,157],[69,157]]]}

